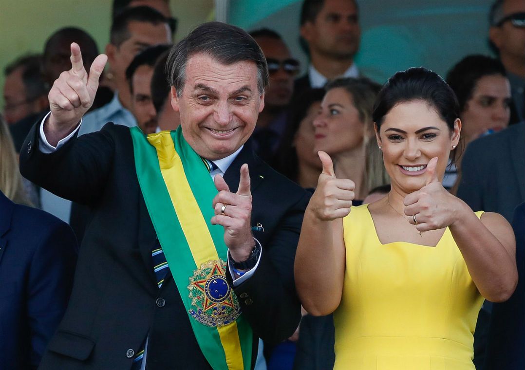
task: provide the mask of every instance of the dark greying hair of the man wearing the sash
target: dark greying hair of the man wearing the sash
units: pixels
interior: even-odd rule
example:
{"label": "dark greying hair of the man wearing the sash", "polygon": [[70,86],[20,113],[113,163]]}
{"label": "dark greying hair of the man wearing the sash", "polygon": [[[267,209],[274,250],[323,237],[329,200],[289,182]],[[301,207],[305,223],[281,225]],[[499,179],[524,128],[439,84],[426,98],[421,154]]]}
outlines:
{"label": "dark greying hair of the man wearing the sash", "polygon": [[186,64],[196,54],[207,55],[220,64],[252,61],[257,66],[257,89],[264,93],[268,85],[268,65],[261,48],[243,29],[220,22],[207,22],[195,28],[171,51],[166,62],[170,85],[181,96],[186,81]]}

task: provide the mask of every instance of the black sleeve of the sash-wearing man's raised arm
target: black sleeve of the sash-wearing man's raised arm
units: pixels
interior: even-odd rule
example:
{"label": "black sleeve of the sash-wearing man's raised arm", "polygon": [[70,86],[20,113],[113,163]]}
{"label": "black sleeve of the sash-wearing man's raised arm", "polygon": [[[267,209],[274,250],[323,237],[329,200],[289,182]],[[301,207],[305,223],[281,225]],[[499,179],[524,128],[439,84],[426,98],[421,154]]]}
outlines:
{"label": "black sleeve of the sash-wearing man's raised arm", "polygon": [[33,126],[20,152],[22,175],[62,198],[83,204],[96,201],[107,183],[113,161],[113,124],[107,124],[100,132],[71,138],[49,154],[38,147],[39,126],[39,122]]}

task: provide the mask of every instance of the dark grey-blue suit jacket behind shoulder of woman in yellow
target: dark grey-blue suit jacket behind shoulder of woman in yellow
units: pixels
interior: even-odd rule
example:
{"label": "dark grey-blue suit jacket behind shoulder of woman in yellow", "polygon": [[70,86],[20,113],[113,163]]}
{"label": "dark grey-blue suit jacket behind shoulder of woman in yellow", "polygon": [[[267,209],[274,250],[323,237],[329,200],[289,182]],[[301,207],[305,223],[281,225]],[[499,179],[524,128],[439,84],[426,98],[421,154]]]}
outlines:
{"label": "dark grey-blue suit jacket behind shoulder of woman in yellow", "polygon": [[461,162],[458,197],[474,211],[512,221],[525,202],[525,122],[471,142]]}

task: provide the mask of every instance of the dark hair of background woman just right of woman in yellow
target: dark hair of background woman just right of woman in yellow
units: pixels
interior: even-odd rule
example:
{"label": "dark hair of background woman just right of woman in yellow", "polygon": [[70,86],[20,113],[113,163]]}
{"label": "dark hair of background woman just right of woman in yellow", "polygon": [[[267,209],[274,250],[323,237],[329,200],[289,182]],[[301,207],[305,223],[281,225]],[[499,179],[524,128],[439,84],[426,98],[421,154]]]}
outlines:
{"label": "dark hair of background woman just right of woman in yellow", "polygon": [[472,98],[472,92],[481,77],[507,76],[505,68],[498,59],[485,55],[469,55],[461,59],[447,74],[447,83],[456,93],[459,112],[465,110],[465,104]]}

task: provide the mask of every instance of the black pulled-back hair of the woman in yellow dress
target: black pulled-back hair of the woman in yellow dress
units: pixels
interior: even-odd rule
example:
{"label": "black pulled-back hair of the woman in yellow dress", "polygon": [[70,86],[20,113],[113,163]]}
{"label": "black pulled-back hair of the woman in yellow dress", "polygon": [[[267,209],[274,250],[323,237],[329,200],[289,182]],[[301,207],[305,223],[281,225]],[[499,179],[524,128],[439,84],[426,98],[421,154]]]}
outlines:
{"label": "black pulled-back hair of the woman in yellow dress", "polygon": [[[456,94],[436,72],[423,67],[397,72],[384,84],[377,94],[372,113],[377,130],[379,131],[385,115],[392,108],[399,103],[414,100],[425,101],[445,121],[450,132],[454,131],[454,122],[459,118]],[[450,153],[452,163],[458,149]]]}

